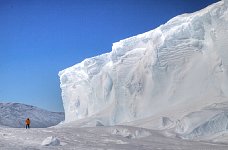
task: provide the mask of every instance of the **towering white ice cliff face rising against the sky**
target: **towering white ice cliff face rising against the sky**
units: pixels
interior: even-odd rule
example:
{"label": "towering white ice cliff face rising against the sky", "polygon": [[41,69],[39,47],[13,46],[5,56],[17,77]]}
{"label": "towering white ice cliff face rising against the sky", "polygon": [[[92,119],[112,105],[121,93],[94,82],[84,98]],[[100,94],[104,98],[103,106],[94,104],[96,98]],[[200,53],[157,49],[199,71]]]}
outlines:
{"label": "towering white ice cliff face rising against the sky", "polygon": [[227,101],[227,40],[224,0],[114,43],[110,53],[59,72],[66,122],[93,115],[104,124],[178,119]]}

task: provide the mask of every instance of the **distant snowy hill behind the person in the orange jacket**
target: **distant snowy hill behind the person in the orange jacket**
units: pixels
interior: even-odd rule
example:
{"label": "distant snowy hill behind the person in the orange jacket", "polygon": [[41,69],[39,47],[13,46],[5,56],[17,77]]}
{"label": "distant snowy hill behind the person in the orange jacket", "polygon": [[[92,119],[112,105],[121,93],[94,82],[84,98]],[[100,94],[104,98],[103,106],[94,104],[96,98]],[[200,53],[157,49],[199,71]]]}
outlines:
{"label": "distant snowy hill behind the person in the orange jacket", "polygon": [[26,118],[30,118],[31,128],[44,128],[63,121],[64,113],[20,103],[0,103],[0,126],[23,128]]}

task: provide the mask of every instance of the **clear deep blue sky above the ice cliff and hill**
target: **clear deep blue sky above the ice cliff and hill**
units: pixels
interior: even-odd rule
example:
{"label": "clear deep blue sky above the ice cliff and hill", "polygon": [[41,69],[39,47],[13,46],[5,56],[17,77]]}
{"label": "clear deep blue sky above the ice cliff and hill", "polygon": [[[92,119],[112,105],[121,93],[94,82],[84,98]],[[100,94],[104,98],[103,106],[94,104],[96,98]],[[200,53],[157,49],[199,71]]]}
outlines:
{"label": "clear deep blue sky above the ice cliff and hill", "polygon": [[0,102],[63,111],[58,72],[218,0],[0,0]]}

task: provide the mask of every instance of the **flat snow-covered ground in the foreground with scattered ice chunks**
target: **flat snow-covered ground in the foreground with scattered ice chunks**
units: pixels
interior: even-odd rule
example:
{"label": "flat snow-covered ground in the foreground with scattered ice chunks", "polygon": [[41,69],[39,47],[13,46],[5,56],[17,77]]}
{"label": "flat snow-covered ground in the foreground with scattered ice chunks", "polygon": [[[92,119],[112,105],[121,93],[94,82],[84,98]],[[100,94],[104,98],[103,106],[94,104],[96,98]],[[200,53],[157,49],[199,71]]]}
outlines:
{"label": "flat snow-covered ground in the foreground with scattered ice chunks", "polygon": [[129,126],[0,128],[1,150],[227,150],[226,144],[187,141]]}

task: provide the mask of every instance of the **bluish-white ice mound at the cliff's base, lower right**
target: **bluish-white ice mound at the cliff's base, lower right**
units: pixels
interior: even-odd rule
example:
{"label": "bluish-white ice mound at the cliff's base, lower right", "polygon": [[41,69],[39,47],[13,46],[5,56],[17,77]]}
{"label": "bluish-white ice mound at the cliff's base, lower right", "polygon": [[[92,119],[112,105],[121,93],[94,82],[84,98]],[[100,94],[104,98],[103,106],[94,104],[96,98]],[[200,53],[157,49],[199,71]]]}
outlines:
{"label": "bluish-white ice mound at the cliff's base, lower right", "polygon": [[228,103],[215,103],[200,111],[184,116],[176,125],[176,132],[183,138],[213,137],[228,129]]}

